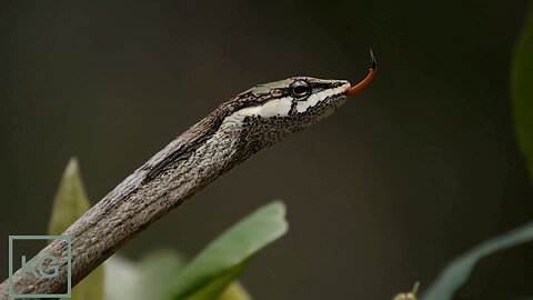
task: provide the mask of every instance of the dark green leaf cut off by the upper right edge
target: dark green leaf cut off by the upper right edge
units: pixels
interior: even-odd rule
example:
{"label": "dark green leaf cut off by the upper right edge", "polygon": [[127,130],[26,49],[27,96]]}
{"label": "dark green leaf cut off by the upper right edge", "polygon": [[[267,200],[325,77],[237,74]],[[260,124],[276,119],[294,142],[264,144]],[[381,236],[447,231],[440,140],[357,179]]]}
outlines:
{"label": "dark green leaf cut off by the upper right edge", "polygon": [[520,151],[525,156],[533,179],[533,3],[526,23],[515,46],[512,73],[511,97],[513,103],[514,128]]}

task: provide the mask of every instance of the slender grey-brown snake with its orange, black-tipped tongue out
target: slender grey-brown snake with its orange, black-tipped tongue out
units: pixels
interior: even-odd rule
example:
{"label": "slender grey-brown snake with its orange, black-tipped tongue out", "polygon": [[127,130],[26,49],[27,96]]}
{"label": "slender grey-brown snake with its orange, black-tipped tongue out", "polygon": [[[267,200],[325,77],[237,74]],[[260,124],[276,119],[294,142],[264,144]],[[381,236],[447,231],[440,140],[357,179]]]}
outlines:
{"label": "slender grey-brown snake with its orange, black-tipped tongue out", "polygon": [[[169,143],[62,233],[72,241],[72,287],[128,240],[218,177],[335,111],[346,96],[373,79],[376,62],[372,51],[371,59],[368,76],[355,86],[346,80],[310,77],[255,86],[222,103]],[[12,276],[13,290],[66,292],[66,243],[56,240],[38,256],[60,258],[59,276],[37,279],[19,270]],[[8,299],[8,280],[0,284],[0,298]]]}

